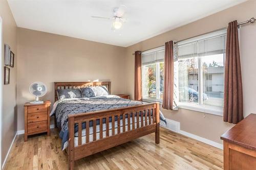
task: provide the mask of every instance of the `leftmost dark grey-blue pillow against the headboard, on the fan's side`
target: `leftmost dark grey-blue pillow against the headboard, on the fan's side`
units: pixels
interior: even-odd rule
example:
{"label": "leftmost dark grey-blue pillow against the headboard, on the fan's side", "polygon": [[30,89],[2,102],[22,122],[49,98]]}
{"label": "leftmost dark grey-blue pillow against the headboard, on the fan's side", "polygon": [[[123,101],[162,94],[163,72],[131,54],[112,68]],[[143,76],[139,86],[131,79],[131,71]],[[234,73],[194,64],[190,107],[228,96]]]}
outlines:
{"label": "leftmost dark grey-blue pillow against the headboard, on the fan's side", "polygon": [[82,92],[79,88],[57,89],[58,99],[82,98]]}

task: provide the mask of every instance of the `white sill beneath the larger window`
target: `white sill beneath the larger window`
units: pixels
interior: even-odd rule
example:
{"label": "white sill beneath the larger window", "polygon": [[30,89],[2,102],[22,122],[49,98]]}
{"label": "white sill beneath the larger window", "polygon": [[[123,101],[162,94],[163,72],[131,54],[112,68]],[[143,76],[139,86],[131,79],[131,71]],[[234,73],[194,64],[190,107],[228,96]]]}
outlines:
{"label": "white sill beneath the larger window", "polygon": [[200,107],[194,104],[179,103],[179,108],[223,116],[223,107],[217,107],[217,106]]}

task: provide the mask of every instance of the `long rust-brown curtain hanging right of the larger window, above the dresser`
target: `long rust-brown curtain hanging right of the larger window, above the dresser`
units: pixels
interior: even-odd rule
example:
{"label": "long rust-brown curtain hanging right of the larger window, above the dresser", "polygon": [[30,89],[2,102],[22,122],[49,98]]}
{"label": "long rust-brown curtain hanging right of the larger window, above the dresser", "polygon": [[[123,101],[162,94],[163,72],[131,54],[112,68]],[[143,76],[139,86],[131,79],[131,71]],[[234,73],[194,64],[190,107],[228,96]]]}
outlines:
{"label": "long rust-brown curtain hanging right of the larger window, above the dresser", "polygon": [[224,122],[237,124],[243,118],[238,24],[235,20],[228,23],[227,29],[223,120]]}

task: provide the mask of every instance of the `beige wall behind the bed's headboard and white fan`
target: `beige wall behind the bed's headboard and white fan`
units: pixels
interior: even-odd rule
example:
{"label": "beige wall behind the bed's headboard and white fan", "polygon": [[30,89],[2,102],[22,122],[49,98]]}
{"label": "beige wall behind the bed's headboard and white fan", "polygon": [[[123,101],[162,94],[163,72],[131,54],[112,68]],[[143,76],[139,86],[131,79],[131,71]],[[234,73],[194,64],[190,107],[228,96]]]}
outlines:
{"label": "beige wall behind the bed's headboard and white fan", "polygon": [[125,48],[18,28],[18,130],[24,130],[25,102],[34,100],[29,86],[44,82],[41,100],[54,102],[55,81],[111,81],[112,94],[126,90]]}

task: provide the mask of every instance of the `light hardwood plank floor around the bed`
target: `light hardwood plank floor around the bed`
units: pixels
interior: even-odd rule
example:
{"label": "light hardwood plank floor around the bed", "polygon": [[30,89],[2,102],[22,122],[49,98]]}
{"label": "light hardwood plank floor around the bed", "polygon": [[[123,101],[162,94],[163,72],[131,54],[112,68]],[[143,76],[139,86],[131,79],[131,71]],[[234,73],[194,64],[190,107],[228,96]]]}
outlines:
{"label": "light hardwood plank floor around the bed", "polygon": [[[34,135],[24,142],[18,135],[5,169],[67,169],[58,131]],[[160,144],[150,134],[75,162],[75,169],[223,169],[223,151],[160,128]]]}

